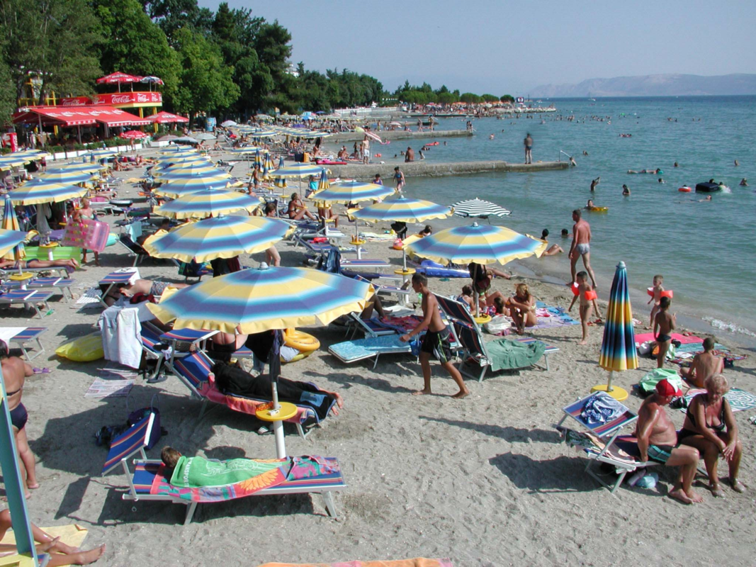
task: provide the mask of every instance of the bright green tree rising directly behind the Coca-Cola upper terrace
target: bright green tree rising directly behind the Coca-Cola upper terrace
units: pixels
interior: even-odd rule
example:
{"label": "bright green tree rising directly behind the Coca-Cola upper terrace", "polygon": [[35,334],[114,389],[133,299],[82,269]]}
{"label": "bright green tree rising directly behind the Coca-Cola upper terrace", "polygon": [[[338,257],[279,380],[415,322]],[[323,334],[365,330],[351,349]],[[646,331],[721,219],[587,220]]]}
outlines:
{"label": "bright green tree rising directly behind the Coca-Cola upper terrace", "polygon": [[103,36],[99,45],[104,73],[122,71],[163,79],[170,101],[178,88],[178,54],[163,30],[144,13],[138,0],[93,0]]}

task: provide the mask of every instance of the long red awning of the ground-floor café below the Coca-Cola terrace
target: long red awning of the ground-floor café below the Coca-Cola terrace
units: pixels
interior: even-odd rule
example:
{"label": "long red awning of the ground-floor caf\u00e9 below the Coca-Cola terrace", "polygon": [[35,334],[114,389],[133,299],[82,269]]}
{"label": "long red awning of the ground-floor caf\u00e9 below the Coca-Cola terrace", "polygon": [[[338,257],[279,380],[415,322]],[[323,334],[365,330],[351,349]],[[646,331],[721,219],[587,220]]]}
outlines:
{"label": "long red awning of the ground-floor caf\u00e9 below the Coca-Cola terrace", "polygon": [[136,125],[150,123],[149,120],[139,118],[123,110],[112,107],[26,107],[13,116],[14,124],[37,124],[40,119],[45,125],[81,126],[92,124],[106,124],[115,126]]}

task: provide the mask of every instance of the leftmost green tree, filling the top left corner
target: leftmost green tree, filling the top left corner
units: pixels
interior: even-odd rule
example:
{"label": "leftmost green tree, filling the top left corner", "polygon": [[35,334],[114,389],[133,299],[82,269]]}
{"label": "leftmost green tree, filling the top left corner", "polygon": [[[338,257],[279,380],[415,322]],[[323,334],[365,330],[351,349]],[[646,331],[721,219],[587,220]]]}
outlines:
{"label": "leftmost green tree, filling the top left corner", "polygon": [[17,98],[30,75],[41,80],[43,102],[52,90],[90,92],[101,73],[100,23],[86,0],[3,0],[0,34]]}

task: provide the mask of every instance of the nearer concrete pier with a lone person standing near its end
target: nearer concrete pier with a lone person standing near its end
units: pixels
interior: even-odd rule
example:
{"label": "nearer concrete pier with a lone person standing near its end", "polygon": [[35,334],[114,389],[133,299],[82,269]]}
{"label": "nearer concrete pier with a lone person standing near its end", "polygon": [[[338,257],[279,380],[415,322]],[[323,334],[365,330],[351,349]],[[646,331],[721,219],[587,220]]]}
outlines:
{"label": "nearer concrete pier with a lone person standing near its end", "polygon": [[359,164],[348,166],[324,166],[330,169],[331,177],[340,177],[345,179],[359,179],[370,181],[376,173],[380,173],[383,182],[389,184],[392,182],[394,168],[399,166],[404,176],[411,177],[442,177],[445,175],[468,175],[474,173],[488,172],[541,172],[553,169],[568,169],[569,162],[538,162],[525,165],[525,163],[507,163],[504,161],[488,162],[442,162],[429,163],[427,161],[410,162],[410,163],[371,163],[369,166]]}

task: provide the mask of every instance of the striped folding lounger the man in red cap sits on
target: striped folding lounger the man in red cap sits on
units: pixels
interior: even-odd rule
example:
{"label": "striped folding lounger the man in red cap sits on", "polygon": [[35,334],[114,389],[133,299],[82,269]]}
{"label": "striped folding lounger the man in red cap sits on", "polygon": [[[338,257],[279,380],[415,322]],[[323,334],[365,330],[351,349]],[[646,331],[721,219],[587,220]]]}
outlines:
{"label": "striped folding lounger the man in red cap sits on", "polygon": [[[603,404],[615,407],[615,412],[609,420],[599,420],[591,423],[586,417],[582,416],[584,407],[589,400],[598,400]],[[578,401],[575,401],[569,406],[562,408],[564,416],[559,423],[556,424],[556,429],[562,434],[565,442],[573,447],[581,448],[588,457],[588,463],[585,466],[585,472],[601,483],[605,488],[614,494],[619,485],[622,484],[625,475],[628,472],[633,472],[636,469],[643,468],[645,466],[656,465],[655,461],[649,460],[646,463],[636,460],[631,454],[622,451],[617,445],[619,432],[625,426],[634,423],[638,416],[630,411],[624,404],[616,401],[612,396],[606,392],[596,392]],[[562,426],[562,423],[571,417],[577,421],[582,428],[587,429],[587,433],[576,432],[573,429],[569,429]],[[608,463],[615,467],[618,474],[617,481],[614,485],[609,485],[600,476],[593,472],[593,464]]]}

